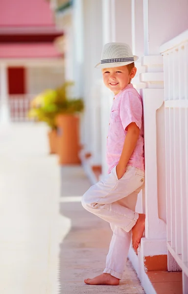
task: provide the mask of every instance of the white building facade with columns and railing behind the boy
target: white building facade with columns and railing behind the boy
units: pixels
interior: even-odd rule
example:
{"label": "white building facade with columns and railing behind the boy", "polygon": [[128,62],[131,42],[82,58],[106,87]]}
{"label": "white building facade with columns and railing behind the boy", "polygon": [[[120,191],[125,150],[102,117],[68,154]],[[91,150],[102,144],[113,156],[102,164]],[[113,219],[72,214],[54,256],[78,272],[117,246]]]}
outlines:
{"label": "white building facade with columns and railing behind the boy", "polygon": [[138,255],[131,247],[129,258],[146,293],[158,293],[152,272],[182,271],[177,293],[188,294],[188,1],[51,2],[66,28],[65,71],[85,101],[80,156],[92,183],[107,172],[112,105],[94,65],[108,42],[128,43],[140,57],[132,82],[143,99],[145,187],[136,209],[146,224]]}

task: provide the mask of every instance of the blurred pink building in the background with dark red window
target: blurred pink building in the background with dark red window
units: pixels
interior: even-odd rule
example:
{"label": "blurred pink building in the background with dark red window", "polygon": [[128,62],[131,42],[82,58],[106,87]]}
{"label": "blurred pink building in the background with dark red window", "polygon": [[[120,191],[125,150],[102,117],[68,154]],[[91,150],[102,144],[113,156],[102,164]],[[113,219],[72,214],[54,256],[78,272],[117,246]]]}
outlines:
{"label": "blurred pink building in the background with dark red window", "polygon": [[64,81],[63,54],[54,45],[63,32],[55,28],[49,5],[0,1],[1,121],[25,120],[30,99]]}

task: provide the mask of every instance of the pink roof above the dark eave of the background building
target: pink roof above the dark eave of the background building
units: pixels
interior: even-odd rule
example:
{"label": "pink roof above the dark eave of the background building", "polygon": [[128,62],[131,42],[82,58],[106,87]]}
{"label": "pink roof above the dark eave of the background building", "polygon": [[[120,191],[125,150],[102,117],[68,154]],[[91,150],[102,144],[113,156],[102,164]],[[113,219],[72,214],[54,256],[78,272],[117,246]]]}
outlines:
{"label": "pink roof above the dark eave of the background building", "polygon": [[0,26],[53,24],[47,0],[0,0]]}

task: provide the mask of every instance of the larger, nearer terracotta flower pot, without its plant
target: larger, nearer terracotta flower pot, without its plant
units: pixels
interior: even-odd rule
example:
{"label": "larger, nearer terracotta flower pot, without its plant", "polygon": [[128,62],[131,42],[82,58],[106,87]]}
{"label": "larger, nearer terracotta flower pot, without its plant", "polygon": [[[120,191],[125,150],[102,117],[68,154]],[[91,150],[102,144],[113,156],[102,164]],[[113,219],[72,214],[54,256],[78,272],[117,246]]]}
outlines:
{"label": "larger, nearer terracotta flower pot, without its plant", "polygon": [[79,117],[60,114],[57,123],[57,153],[59,164],[79,164]]}

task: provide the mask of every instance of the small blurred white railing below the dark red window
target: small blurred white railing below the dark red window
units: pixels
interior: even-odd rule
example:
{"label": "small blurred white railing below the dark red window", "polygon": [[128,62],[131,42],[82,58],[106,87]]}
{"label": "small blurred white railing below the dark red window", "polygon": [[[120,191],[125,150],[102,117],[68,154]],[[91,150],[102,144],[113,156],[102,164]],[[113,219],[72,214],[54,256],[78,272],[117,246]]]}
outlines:
{"label": "small blurred white railing below the dark red window", "polygon": [[29,122],[28,111],[30,102],[34,98],[34,94],[9,95],[8,104],[10,119],[12,122]]}

